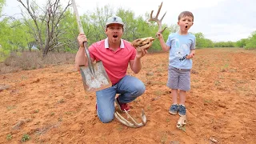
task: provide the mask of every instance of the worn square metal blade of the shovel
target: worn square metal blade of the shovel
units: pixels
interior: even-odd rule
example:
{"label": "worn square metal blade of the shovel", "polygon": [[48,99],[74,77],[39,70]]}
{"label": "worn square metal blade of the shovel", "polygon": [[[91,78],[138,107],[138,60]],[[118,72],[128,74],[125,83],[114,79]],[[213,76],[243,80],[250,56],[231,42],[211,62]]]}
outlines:
{"label": "worn square metal blade of the shovel", "polygon": [[102,62],[99,61],[93,65],[94,74],[90,72],[90,68],[88,66],[80,66],[80,74],[82,75],[84,89],[86,91],[98,91],[112,86]]}

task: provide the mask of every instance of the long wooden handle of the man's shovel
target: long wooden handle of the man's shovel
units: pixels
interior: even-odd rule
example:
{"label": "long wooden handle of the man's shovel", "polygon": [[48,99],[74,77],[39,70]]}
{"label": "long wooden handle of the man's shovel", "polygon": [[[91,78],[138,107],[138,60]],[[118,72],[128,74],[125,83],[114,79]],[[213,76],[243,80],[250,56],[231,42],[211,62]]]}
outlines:
{"label": "long wooden handle of the man's shovel", "polygon": [[[79,32],[84,34],[83,29],[82,29],[82,22],[80,20],[79,14],[78,14],[78,9],[77,9],[77,5],[75,3],[75,0],[72,0],[72,5],[73,5],[75,17],[76,17],[77,22],[78,22]],[[91,59],[90,59],[89,50],[87,48],[87,42],[84,42],[83,46],[85,47],[86,56],[87,56],[87,59],[88,59],[88,66],[89,66],[90,72],[91,72],[91,74],[94,74],[94,65],[93,65],[93,63],[91,62]]]}

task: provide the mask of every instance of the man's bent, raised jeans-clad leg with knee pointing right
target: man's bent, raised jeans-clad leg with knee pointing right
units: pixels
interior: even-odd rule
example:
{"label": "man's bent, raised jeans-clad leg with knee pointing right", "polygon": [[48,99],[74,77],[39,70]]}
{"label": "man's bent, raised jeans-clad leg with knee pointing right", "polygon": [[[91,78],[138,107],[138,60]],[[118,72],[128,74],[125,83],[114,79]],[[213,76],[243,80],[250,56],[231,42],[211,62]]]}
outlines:
{"label": "man's bent, raised jeans-clad leg with knee pointing right", "polygon": [[138,78],[126,75],[117,83],[118,101],[121,103],[129,103],[145,92],[144,83]]}

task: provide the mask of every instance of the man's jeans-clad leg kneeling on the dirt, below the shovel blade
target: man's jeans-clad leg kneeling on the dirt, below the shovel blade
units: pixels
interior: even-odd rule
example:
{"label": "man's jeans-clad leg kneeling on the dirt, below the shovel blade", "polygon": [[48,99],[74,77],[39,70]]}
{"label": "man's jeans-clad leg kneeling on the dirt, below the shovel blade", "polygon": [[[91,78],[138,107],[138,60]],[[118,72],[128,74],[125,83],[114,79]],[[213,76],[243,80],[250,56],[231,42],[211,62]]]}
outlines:
{"label": "man's jeans-clad leg kneeling on the dirt, below the shovel blade", "polygon": [[111,86],[104,90],[96,92],[97,97],[97,114],[103,123],[111,122],[114,118],[114,98],[116,95],[116,87]]}

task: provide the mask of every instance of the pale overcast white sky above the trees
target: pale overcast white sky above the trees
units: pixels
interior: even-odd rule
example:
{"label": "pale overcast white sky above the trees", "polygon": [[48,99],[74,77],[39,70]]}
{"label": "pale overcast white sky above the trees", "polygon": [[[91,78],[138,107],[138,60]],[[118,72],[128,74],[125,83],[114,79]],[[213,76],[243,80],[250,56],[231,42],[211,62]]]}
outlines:
{"label": "pale overcast white sky above the trees", "polygon": [[[26,2],[26,0],[22,0]],[[36,0],[44,4],[45,0]],[[68,0],[61,0],[66,5]],[[178,14],[189,10],[194,14],[194,25],[190,32],[202,32],[205,38],[214,42],[236,42],[250,37],[256,30],[256,0],[75,0],[80,15],[94,12],[96,7],[111,6],[114,10],[123,8],[131,10],[135,16],[144,16],[154,10],[162,2],[162,9],[158,18],[166,12],[162,23],[173,25],[178,22]],[[17,0],[6,0],[2,14],[18,17],[20,13]],[[154,16],[153,14],[153,16]]]}

